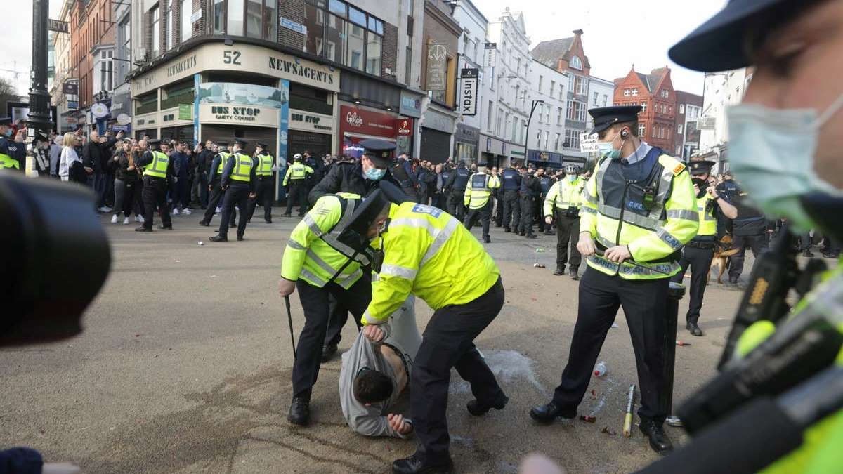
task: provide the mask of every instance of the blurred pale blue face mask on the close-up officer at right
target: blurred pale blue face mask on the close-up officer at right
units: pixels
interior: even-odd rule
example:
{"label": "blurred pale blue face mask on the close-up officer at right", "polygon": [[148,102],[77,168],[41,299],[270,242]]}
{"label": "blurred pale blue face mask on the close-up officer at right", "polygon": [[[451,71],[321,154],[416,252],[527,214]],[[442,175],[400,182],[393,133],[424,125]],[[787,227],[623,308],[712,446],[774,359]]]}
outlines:
{"label": "blurred pale blue face mask on the close-up officer at right", "polygon": [[815,109],[779,110],[754,104],[728,109],[731,170],[763,213],[787,218],[797,232],[814,227],[800,196],[815,192],[843,196],[813,170],[819,129],[840,107],[843,94],[822,114]]}

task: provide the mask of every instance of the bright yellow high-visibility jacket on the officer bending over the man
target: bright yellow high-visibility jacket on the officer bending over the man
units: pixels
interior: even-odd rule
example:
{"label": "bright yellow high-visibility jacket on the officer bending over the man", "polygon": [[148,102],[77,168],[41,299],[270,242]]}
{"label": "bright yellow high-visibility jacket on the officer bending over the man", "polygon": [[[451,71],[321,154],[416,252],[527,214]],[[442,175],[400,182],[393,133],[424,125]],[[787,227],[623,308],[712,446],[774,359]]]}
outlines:
{"label": "bright yellow high-visibility jacket on the officer bending over the man", "polygon": [[433,310],[464,304],[485,294],[500,270],[459,220],[436,207],[405,202],[389,209],[381,240],[384,262],[372,283],[372,302],[363,324],[381,324],[409,294]]}

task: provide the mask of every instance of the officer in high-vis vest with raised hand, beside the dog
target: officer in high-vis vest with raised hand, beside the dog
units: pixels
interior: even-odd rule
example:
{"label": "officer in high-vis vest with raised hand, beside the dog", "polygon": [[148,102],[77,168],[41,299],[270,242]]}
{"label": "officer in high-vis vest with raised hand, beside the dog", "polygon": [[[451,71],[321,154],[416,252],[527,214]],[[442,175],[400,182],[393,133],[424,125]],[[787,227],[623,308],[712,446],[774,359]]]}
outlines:
{"label": "officer in high-vis vest with raised hand, beside the dog", "polygon": [[690,304],[688,314],[685,315],[685,329],[694,336],[702,336],[697,321],[700,319],[702,297],[706,292],[711,259],[714,258],[714,245],[717,243],[717,216],[722,213],[726,218],[738,217],[738,209],[728,202],[727,197],[718,194],[714,189],[716,183],[711,179],[711,167],[715,164],[705,160],[691,161],[688,164],[696,192],[700,230],[685,247],[682,247],[682,258],[679,259],[679,267],[682,269],[673,277],[674,282],[682,283],[685,271],[690,267]]}

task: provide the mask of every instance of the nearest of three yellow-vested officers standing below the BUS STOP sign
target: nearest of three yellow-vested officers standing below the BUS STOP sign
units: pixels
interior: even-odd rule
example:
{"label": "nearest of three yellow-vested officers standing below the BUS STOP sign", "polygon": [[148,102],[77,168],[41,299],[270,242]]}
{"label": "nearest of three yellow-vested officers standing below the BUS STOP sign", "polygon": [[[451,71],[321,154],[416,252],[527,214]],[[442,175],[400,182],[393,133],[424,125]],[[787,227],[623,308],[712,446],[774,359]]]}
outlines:
{"label": "nearest of three yellow-vested officers standing below the BUS STOP sign", "polygon": [[234,213],[234,204],[240,208],[240,220],[237,223],[237,240],[243,240],[246,232],[246,220],[249,218],[249,198],[255,197],[255,161],[247,154],[240,153],[248,143],[240,138],[234,138],[232,154],[223,166],[223,178],[220,186],[225,190],[223,198],[223,218],[219,224],[217,235],[213,235],[212,242],[228,241],[228,220]]}

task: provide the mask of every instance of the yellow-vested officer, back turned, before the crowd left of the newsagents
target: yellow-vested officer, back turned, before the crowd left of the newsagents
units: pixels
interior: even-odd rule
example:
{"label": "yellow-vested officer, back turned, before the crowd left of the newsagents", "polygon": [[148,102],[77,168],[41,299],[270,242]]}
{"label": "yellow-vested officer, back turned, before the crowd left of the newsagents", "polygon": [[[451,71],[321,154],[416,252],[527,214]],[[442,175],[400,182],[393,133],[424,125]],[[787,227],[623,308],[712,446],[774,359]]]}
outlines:
{"label": "yellow-vested officer, back turned, before the crowd left of the newsagents", "polygon": [[167,190],[169,185],[175,182],[175,167],[173,161],[164,154],[161,147],[161,140],[150,138],[147,140],[149,149],[135,161],[135,166],[143,168],[143,225],[138,227],[137,232],[152,232],[155,207],[161,213],[161,225],[158,229],[173,229],[173,223],[169,218],[169,204],[167,203]]}

